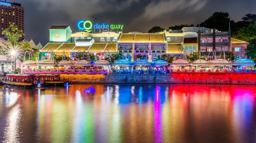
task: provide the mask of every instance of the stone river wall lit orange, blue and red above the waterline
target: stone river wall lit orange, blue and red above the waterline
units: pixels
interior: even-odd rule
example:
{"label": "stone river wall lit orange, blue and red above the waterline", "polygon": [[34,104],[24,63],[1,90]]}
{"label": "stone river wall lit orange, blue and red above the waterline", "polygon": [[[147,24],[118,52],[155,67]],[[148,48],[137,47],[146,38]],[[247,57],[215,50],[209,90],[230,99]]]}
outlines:
{"label": "stone river wall lit orange, blue and red above the waterline", "polygon": [[171,83],[256,85],[256,74],[60,75],[71,83]]}

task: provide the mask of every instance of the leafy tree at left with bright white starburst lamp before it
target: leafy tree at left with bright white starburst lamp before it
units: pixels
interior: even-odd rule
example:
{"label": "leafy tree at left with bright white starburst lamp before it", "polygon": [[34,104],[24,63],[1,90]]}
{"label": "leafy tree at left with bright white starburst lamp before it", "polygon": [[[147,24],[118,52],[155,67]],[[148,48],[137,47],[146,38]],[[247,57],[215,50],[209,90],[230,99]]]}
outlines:
{"label": "leafy tree at left with bright white starburst lamp before it", "polygon": [[2,34],[7,38],[7,42],[3,42],[4,46],[1,47],[1,53],[14,58],[15,71],[17,58],[19,58],[20,53],[24,52],[24,49],[27,48],[23,45],[23,41],[20,40],[25,34],[14,25],[10,25],[9,28],[2,32]]}

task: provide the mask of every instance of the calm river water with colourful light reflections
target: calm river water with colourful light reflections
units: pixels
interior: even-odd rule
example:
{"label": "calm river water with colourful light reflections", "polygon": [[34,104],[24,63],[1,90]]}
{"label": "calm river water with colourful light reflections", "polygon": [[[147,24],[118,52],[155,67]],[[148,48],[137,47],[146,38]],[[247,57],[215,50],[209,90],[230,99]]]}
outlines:
{"label": "calm river water with colourful light reflections", "polygon": [[256,142],[256,88],[1,87],[0,136],[1,142]]}

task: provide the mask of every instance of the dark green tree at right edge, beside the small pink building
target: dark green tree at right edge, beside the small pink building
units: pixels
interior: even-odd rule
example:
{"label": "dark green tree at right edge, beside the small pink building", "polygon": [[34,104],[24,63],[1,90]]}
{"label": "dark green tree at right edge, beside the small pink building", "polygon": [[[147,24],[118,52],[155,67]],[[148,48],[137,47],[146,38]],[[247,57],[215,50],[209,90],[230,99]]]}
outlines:
{"label": "dark green tree at right edge, beside the small pink building", "polygon": [[247,42],[249,44],[247,45],[245,54],[248,58],[256,62],[256,37],[249,38]]}

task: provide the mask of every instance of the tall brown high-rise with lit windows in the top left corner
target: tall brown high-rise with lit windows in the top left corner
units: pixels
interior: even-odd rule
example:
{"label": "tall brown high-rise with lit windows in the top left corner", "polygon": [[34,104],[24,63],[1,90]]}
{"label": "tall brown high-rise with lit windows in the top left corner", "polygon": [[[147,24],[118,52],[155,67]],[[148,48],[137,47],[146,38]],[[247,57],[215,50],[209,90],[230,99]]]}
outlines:
{"label": "tall brown high-rise with lit windows in the top left corner", "polygon": [[17,3],[9,3],[0,1],[1,22],[0,22],[0,36],[3,37],[2,32],[13,24],[24,31],[24,8]]}

